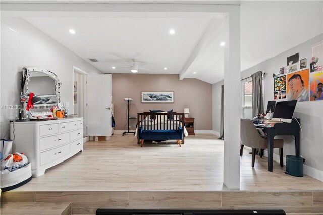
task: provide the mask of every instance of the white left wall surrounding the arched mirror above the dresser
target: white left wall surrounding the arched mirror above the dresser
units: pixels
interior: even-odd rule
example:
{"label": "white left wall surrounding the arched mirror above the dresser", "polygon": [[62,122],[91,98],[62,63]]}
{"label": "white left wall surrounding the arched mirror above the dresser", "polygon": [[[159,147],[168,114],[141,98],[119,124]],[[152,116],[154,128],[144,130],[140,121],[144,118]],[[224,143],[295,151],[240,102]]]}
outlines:
{"label": "white left wall surrounding the arched mirror above the dresser", "polygon": [[[40,67],[54,72],[62,82],[61,103],[73,111],[73,65],[89,74],[102,72],[74,52],[35,28],[22,18],[1,18],[1,96],[0,105],[19,105],[23,67]],[[1,138],[9,131],[9,120],[18,110],[0,110]],[[9,135],[6,136],[9,138]]]}

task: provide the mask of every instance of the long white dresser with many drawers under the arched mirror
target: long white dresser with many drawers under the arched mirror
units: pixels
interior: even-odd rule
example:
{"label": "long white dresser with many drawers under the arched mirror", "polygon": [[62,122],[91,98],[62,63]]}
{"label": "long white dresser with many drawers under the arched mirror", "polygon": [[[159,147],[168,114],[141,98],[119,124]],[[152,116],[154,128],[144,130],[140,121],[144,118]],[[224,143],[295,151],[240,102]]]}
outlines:
{"label": "long white dresser with many drawers under the arched mirror", "polygon": [[83,117],[47,121],[12,122],[12,152],[25,153],[32,176],[83,151]]}

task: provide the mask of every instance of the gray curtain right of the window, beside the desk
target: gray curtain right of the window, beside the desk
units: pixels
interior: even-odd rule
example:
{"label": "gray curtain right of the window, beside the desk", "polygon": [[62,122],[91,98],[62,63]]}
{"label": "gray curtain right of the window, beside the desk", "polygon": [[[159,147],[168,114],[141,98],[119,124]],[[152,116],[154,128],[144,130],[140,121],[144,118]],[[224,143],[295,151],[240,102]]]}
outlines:
{"label": "gray curtain right of the window, beside the desk", "polygon": [[263,112],[262,72],[251,75],[252,78],[252,117]]}

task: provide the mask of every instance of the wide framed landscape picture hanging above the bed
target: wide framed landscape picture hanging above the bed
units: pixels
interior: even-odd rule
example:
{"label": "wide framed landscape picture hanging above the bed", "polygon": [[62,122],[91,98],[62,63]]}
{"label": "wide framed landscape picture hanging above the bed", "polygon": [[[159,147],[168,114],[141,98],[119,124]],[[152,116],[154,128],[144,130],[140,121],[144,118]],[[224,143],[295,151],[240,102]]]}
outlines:
{"label": "wide framed landscape picture hanging above the bed", "polygon": [[174,92],[141,92],[141,103],[174,103]]}

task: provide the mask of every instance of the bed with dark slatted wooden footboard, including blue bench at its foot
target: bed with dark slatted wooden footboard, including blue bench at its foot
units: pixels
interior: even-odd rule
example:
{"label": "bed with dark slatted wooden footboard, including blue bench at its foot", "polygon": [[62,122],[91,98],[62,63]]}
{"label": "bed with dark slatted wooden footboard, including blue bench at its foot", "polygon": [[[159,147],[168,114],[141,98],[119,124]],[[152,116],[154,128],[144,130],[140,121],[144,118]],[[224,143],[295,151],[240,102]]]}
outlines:
{"label": "bed with dark slatted wooden footboard, including blue bench at its foot", "polygon": [[138,122],[136,136],[138,144],[143,147],[144,140],[152,140],[155,142],[176,140],[181,146],[187,136],[184,126],[184,113],[176,112],[158,112],[138,113]]}

